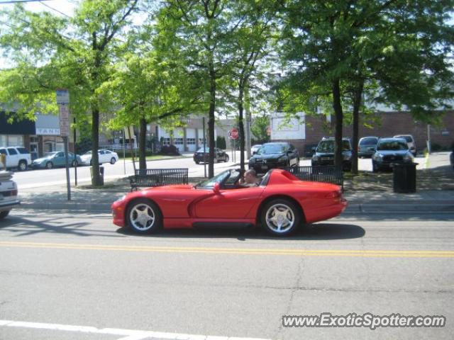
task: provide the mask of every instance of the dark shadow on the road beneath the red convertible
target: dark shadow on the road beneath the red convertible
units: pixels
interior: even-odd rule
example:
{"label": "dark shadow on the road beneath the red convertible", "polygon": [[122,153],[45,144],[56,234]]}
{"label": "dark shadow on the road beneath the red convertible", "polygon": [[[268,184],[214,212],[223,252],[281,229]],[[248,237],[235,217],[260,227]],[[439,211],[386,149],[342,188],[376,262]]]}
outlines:
{"label": "dark shadow on the road beneath the red convertible", "polygon": [[267,234],[264,229],[250,227],[243,229],[229,228],[197,228],[197,229],[167,229],[159,234],[134,234],[126,227],[117,230],[120,234],[133,237],[153,238],[182,238],[182,239],[214,239],[227,238],[245,241],[246,239],[270,239],[282,241],[310,241],[310,240],[332,240],[332,239],[357,239],[365,235],[365,229],[358,225],[345,223],[317,223],[307,225],[288,237],[275,237]]}

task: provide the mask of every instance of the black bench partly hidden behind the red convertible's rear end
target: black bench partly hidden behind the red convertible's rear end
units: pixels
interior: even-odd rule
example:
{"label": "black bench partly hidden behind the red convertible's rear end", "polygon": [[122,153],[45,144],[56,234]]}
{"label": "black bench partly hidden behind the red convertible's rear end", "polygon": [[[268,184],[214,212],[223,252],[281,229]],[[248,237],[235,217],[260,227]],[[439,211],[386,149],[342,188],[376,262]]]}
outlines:
{"label": "black bench partly hidden behind the red convertible's rear end", "polygon": [[286,170],[301,181],[333,183],[343,190],[343,172],[336,166],[291,166]]}

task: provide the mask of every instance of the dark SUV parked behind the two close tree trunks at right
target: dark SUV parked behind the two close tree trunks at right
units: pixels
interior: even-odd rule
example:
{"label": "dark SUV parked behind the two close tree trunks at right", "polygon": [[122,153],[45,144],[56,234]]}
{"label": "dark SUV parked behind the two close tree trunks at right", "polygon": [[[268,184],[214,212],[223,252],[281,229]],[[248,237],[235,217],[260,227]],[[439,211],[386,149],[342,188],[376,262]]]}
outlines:
{"label": "dark SUV parked behind the two close tree trunks at right", "polygon": [[[324,138],[319,142],[311,159],[312,166],[334,165],[334,150],[336,140],[332,137]],[[352,169],[352,145],[350,139],[342,139],[342,168],[345,171]]]}

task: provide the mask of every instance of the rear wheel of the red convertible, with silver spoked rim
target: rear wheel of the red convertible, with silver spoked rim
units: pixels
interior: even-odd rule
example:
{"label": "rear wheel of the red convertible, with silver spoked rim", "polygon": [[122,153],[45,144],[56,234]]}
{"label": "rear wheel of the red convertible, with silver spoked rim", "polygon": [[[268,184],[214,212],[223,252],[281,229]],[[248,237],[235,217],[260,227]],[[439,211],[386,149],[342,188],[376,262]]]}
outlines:
{"label": "rear wheel of the red convertible, with silver spoked rim", "polygon": [[270,200],[260,212],[260,222],[268,233],[274,236],[287,236],[301,227],[301,210],[295,203],[285,198]]}

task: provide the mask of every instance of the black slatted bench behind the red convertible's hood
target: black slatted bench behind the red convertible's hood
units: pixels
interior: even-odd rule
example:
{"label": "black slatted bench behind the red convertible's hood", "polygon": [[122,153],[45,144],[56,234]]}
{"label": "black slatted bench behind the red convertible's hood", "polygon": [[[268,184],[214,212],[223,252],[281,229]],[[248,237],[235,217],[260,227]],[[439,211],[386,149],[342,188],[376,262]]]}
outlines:
{"label": "black slatted bench behind the red convertible's hood", "polygon": [[176,169],[136,169],[133,176],[129,176],[131,191],[139,187],[167,186],[170,184],[187,184],[187,168]]}

